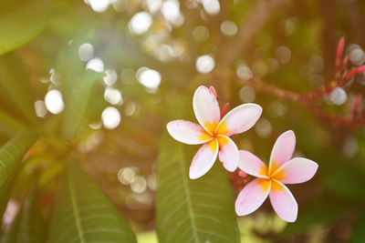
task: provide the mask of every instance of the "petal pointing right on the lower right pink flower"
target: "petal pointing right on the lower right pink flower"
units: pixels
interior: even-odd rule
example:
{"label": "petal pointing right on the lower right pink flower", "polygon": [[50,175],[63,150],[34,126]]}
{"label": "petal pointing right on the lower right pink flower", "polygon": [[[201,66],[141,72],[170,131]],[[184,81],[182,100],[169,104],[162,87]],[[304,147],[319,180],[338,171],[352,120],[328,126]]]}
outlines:
{"label": "petal pointing right on the lower right pink flower", "polygon": [[318,164],[308,158],[295,157],[276,170],[273,175],[284,184],[303,183],[314,177]]}

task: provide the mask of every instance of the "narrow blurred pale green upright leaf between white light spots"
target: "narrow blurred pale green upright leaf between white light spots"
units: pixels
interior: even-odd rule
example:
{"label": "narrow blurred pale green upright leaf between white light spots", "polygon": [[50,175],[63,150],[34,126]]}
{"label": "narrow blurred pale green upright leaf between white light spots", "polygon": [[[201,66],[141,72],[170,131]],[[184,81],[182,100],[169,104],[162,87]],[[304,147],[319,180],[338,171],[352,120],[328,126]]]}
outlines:
{"label": "narrow blurred pale green upright leaf between white light spots", "polygon": [[66,100],[62,127],[64,137],[71,139],[75,136],[82,118],[85,116],[95,82],[103,76],[105,76],[104,73],[87,70],[81,80],[75,80],[72,95],[68,96],[68,100]]}

